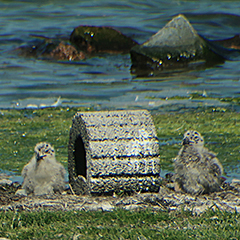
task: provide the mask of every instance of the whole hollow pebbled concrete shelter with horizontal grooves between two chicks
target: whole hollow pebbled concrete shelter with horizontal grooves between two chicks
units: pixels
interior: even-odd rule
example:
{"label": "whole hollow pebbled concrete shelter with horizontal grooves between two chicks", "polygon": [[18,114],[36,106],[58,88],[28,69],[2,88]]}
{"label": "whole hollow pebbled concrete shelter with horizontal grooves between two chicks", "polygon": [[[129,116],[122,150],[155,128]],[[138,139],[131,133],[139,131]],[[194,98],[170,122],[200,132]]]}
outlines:
{"label": "whole hollow pebbled concrete shelter with horizontal grooves between two chicks", "polygon": [[78,112],[70,129],[69,183],[76,194],[159,190],[159,144],[147,110]]}

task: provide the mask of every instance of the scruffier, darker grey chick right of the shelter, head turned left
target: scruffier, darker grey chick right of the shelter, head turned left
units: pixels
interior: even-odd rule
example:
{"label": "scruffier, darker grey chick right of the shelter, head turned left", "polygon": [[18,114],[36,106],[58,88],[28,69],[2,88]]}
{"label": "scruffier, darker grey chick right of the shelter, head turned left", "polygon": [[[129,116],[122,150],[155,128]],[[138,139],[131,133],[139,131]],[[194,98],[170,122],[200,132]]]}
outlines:
{"label": "scruffier, darker grey chick right of the shelter, head turned left", "polygon": [[204,147],[201,134],[187,131],[182,145],[174,160],[174,179],[180,188],[192,195],[219,191],[223,167],[216,154]]}

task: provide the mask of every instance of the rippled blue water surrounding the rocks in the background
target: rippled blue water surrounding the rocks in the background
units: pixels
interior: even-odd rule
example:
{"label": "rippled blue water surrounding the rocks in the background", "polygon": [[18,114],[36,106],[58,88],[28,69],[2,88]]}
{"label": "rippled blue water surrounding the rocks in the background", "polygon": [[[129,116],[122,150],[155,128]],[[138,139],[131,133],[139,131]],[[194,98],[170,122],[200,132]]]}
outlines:
{"label": "rippled blue water surrounding the rocks in the background", "polygon": [[[112,26],[139,43],[173,16],[183,13],[209,39],[240,33],[239,1],[0,1],[0,108],[52,104],[96,109],[179,104],[159,98],[189,96],[239,97],[240,61],[205,70],[155,78],[131,75],[130,55],[100,55],[82,62],[54,62],[17,56],[13,50],[31,35],[68,37],[79,25]],[[10,52],[11,51],[11,52]],[[197,105],[182,100],[185,107]],[[222,105],[218,100],[206,104]]]}

